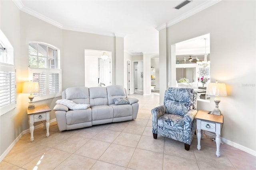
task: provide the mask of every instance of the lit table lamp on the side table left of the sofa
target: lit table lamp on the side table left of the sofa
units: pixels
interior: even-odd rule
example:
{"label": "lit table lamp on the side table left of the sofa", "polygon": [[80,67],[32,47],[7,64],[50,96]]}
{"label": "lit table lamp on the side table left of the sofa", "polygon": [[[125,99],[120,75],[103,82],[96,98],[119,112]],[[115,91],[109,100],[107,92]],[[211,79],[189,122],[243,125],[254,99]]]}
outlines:
{"label": "lit table lamp on the side table left of the sofa", "polygon": [[32,104],[32,101],[34,99],[34,95],[33,93],[38,93],[39,92],[39,84],[38,82],[24,82],[23,84],[23,89],[22,89],[22,93],[28,93],[30,94],[28,96],[29,100],[30,100],[30,104],[28,105],[28,109],[34,109],[35,105]]}

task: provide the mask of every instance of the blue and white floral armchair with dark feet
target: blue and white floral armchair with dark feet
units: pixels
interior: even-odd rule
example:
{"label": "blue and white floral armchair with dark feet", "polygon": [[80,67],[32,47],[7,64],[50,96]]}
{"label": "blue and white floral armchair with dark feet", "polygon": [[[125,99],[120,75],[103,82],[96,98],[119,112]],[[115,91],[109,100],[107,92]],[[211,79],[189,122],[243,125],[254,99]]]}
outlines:
{"label": "blue and white floral armchair with dark feet", "polygon": [[154,139],[160,134],[181,141],[190,149],[196,131],[197,92],[192,88],[168,88],[164,94],[164,105],[151,110]]}

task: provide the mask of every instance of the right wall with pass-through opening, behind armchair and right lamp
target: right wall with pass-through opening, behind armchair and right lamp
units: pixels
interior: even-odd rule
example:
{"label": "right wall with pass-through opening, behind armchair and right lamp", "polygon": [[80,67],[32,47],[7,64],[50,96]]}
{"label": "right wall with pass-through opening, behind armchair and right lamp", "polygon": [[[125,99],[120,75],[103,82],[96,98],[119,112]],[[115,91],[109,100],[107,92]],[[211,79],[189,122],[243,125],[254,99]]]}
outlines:
{"label": "right wall with pass-through opening, behind armchair and right lamp", "polygon": [[[218,80],[227,84],[228,96],[220,97],[219,108],[224,115],[221,136],[232,145],[242,146],[255,154],[255,56],[256,56],[256,12],[255,1],[221,1],[197,14],[160,31],[160,42],[168,45],[160,48],[160,63],[168,63],[175,75],[175,62],[170,61],[171,45],[210,33],[211,82]],[[191,26],[193,25],[193,26]],[[189,28],[189,29],[188,29]],[[188,31],[189,30],[189,31]],[[169,59],[164,60],[164,53]],[[166,70],[161,68],[160,72]],[[175,80],[175,79],[174,79]],[[160,87],[164,86],[164,82]],[[175,86],[172,82],[171,86]],[[161,90],[160,90],[161,91]],[[160,99],[164,93],[160,93]],[[212,110],[210,103],[198,102],[198,109]]]}

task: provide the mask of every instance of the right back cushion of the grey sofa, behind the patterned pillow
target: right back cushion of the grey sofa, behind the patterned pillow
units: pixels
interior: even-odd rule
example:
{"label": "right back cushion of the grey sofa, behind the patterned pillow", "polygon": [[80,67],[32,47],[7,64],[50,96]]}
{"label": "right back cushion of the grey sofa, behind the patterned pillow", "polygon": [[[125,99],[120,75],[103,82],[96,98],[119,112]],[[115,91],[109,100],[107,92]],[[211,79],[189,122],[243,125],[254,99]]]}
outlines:
{"label": "right back cushion of the grey sofa, behind the patterned pillow", "polygon": [[126,92],[121,85],[111,85],[107,86],[108,92],[108,104],[115,104],[114,98],[126,98]]}

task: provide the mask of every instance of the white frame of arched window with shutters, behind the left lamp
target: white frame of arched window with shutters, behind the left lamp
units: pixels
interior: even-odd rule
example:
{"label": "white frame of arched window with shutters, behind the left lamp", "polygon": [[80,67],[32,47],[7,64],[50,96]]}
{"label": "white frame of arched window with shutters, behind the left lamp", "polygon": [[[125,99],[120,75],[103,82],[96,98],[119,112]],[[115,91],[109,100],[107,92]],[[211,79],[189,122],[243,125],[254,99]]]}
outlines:
{"label": "white frame of arched window with shutters, behind the left lamp", "polygon": [[[47,48],[50,47],[50,48],[56,50],[56,65],[55,65],[55,68],[28,67],[28,80],[30,80],[30,81],[32,80],[32,81],[38,81],[39,82],[39,80],[34,80],[33,75],[36,74],[36,73],[46,75],[46,79],[45,79],[46,89],[44,89],[45,93],[41,94],[41,90],[43,90],[43,89],[42,89],[42,87],[40,85],[40,82],[39,82],[40,92],[37,93],[37,94],[34,94],[33,102],[38,102],[38,101],[41,101],[41,100],[47,100],[47,99],[51,99],[51,98],[60,97],[62,95],[62,71],[60,69],[60,50],[57,49],[56,47],[50,45],[50,44],[46,44],[46,43],[42,43],[42,42],[29,42],[29,44],[30,43],[37,43],[37,44],[46,45]],[[48,66],[48,64],[47,64],[47,66]],[[50,74],[59,74],[59,79],[58,79],[59,91],[56,92],[56,93],[53,93],[53,94],[51,94],[51,90],[50,90],[51,85],[49,84],[51,82]]]}

